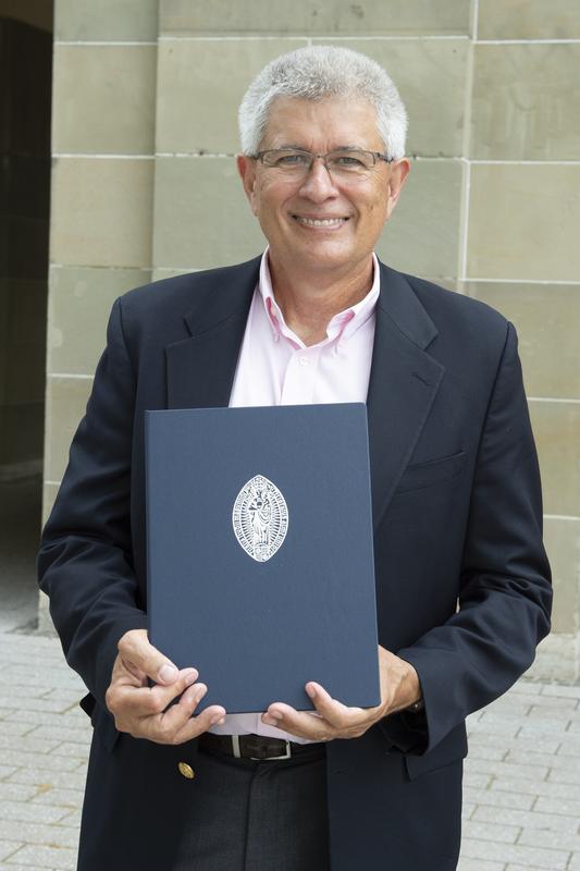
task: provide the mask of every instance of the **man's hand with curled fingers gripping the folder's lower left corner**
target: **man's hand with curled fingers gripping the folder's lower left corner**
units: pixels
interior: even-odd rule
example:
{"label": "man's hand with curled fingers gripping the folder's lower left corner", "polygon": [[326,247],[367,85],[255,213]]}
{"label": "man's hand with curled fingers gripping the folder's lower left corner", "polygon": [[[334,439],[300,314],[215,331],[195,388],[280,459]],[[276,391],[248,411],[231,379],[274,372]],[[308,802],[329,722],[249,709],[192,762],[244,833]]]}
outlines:
{"label": "man's hand with curled fingers gripping the folder's lower left corner", "polygon": [[[119,732],[157,744],[183,744],[197,738],[225,715],[224,708],[212,704],[193,716],[208,688],[195,683],[196,668],[178,671],[150,645],[147,629],[125,633],[118,648],[104,702]],[[147,686],[148,677],[157,682],[156,686]],[[172,699],[182,692],[180,701],[165,711]]]}

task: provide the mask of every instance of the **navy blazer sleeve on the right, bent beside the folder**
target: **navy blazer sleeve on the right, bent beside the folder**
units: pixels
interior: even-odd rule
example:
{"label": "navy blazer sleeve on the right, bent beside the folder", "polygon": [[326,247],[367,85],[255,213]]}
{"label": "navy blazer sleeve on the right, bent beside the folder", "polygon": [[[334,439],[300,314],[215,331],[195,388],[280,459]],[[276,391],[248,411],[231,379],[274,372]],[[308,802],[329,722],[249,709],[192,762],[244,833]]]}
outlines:
{"label": "navy blazer sleeve on the right, bent beside the folder", "polygon": [[505,692],[550,631],[551,606],[540,471],[509,323],[477,456],[458,611],[397,651],[417,670],[425,708],[383,720],[387,737],[428,752]]}

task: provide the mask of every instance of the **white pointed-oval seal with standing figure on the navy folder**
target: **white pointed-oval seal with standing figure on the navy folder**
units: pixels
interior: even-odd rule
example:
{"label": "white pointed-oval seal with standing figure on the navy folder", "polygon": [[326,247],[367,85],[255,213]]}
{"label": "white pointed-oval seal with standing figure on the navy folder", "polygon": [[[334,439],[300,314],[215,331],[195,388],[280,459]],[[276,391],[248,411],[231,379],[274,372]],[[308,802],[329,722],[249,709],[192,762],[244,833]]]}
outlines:
{"label": "white pointed-oval seal with standing figure on the navy folder", "polygon": [[263,475],[255,475],[236,496],[232,523],[239,545],[252,560],[266,563],[286,538],[286,500],[275,483]]}

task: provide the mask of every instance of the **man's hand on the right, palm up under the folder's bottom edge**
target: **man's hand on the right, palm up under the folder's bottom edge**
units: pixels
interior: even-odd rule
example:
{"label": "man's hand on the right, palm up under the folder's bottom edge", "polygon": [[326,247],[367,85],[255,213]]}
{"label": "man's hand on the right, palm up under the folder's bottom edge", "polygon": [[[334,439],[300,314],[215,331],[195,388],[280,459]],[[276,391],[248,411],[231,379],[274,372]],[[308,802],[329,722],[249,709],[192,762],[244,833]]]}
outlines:
{"label": "man's hand on the right, palm up under the folder's bottom edge", "polygon": [[402,711],[421,698],[414,666],[383,647],[379,647],[379,673],[381,703],[377,708],[347,708],[329,696],[320,684],[310,682],[306,691],[314,703],[316,713],[296,711],[276,701],[262,714],[262,723],[313,741],[359,738],[383,716]]}

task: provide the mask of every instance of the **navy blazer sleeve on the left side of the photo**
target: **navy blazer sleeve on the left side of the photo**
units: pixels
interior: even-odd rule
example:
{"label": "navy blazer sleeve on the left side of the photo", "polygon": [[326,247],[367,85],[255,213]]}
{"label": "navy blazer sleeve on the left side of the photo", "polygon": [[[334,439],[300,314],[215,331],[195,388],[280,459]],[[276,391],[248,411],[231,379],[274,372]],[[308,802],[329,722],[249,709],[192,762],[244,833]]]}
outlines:
{"label": "navy blazer sleeve on the left side of the photo", "polygon": [[116,300],[38,555],[39,585],[66,661],[101,706],[119,639],[147,627],[131,544],[135,385]]}

